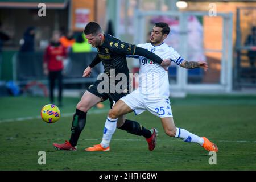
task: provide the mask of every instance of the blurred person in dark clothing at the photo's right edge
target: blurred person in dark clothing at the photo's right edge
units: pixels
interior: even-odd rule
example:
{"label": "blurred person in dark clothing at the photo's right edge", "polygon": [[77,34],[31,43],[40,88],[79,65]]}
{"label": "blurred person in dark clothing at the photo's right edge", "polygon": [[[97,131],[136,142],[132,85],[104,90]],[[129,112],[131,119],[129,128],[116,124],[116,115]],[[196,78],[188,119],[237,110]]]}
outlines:
{"label": "blurred person in dark clothing at the photo's right edge", "polygon": [[[251,28],[251,33],[247,36],[245,45],[246,46],[256,46],[256,27],[255,26],[253,26]],[[250,49],[247,52],[247,56],[249,57],[251,67],[253,67],[255,62],[256,62],[256,51],[255,51],[255,49]]]}

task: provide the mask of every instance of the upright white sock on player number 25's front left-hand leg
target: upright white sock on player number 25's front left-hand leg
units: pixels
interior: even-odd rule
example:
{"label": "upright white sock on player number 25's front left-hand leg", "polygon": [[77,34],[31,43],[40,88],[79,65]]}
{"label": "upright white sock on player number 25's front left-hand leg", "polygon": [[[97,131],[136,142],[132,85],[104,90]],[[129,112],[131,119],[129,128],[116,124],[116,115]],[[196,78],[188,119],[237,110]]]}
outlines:
{"label": "upright white sock on player number 25's front left-hand leg", "polygon": [[101,140],[102,147],[106,148],[109,146],[110,140],[115,132],[115,129],[117,129],[117,119],[111,119],[108,117],[106,119],[105,127],[103,130],[103,137]]}

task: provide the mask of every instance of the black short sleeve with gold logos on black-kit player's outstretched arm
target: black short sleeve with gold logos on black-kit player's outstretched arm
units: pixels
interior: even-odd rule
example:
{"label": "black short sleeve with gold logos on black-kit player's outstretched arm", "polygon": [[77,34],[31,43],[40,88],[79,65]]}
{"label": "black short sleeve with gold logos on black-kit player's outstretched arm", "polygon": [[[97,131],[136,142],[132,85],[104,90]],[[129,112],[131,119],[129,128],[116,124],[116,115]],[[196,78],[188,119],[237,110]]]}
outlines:
{"label": "black short sleeve with gold logos on black-kit player's outstretched arm", "polygon": [[109,49],[121,55],[134,55],[135,53],[135,45],[122,42],[118,39],[113,39],[109,42]]}

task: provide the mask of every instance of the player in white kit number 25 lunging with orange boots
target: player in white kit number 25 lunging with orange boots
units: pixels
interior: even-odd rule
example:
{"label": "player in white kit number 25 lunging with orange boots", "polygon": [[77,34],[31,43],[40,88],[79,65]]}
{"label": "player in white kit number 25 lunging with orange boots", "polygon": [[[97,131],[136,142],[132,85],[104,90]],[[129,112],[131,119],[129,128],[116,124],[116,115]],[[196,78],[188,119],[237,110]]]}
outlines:
{"label": "player in white kit number 25 lunging with orange boots", "polygon": [[[168,24],[156,23],[151,32],[150,43],[137,46],[154,52],[162,59],[170,59],[180,67],[187,69],[203,68],[207,71],[207,63],[186,61],[173,48],[163,42],[169,32]],[[145,57],[139,56],[139,61],[139,88],[115,103],[106,119],[101,144],[88,147],[86,151],[109,151],[110,140],[116,127],[121,127],[123,124],[117,123],[118,117],[133,111],[138,115],[148,110],[160,118],[165,133],[170,137],[181,138],[184,142],[198,143],[207,151],[218,152],[216,144],[210,142],[207,138],[199,137],[185,129],[176,128],[169,100],[168,72]]]}

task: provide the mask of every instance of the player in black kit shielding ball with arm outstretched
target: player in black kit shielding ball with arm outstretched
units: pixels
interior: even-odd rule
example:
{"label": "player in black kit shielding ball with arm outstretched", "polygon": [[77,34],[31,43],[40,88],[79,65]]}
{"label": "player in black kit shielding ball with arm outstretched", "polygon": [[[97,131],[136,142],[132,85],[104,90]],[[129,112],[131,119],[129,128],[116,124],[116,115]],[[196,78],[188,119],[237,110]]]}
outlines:
{"label": "player in black kit shielding ball with arm outstretched", "polygon": [[[84,34],[88,39],[88,43],[92,47],[98,49],[98,54],[92,61],[92,63],[85,69],[83,77],[89,77],[92,72],[92,68],[102,61],[104,65],[104,73],[109,78],[109,82],[102,84],[101,80],[97,80],[94,84],[90,85],[88,90],[85,91],[80,102],[76,106],[76,112],[73,115],[71,138],[69,142],[66,140],[64,144],[53,143],[56,150],[77,150],[77,141],[81,134],[81,131],[85,127],[87,111],[98,104],[98,102],[110,100],[111,105],[113,102],[119,100],[126,94],[129,89],[129,69],[127,67],[126,55],[140,55],[147,59],[154,61],[157,64],[166,68],[170,65],[170,60],[162,60],[154,53],[147,51],[141,47],[137,47],[133,44],[121,42],[117,38],[111,35],[103,34],[100,25],[96,22],[89,22],[85,29]],[[112,74],[114,71],[114,75]],[[115,76],[121,73],[126,76],[127,80],[115,80]],[[114,79],[114,81],[113,81]],[[121,92],[115,90],[115,86],[121,83]],[[125,83],[125,84],[122,84]],[[103,85],[99,86],[100,84]],[[107,86],[106,86],[107,85]],[[105,86],[107,88],[105,88]],[[114,90],[113,90],[114,89]],[[102,92],[102,90],[104,92]],[[125,116],[119,117],[117,122],[117,128],[126,130],[128,133],[143,136],[148,143],[148,149],[154,150],[156,144],[156,129],[147,130],[136,121],[125,119]],[[104,151],[104,150],[101,150]],[[108,150],[105,150],[108,151]]]}

